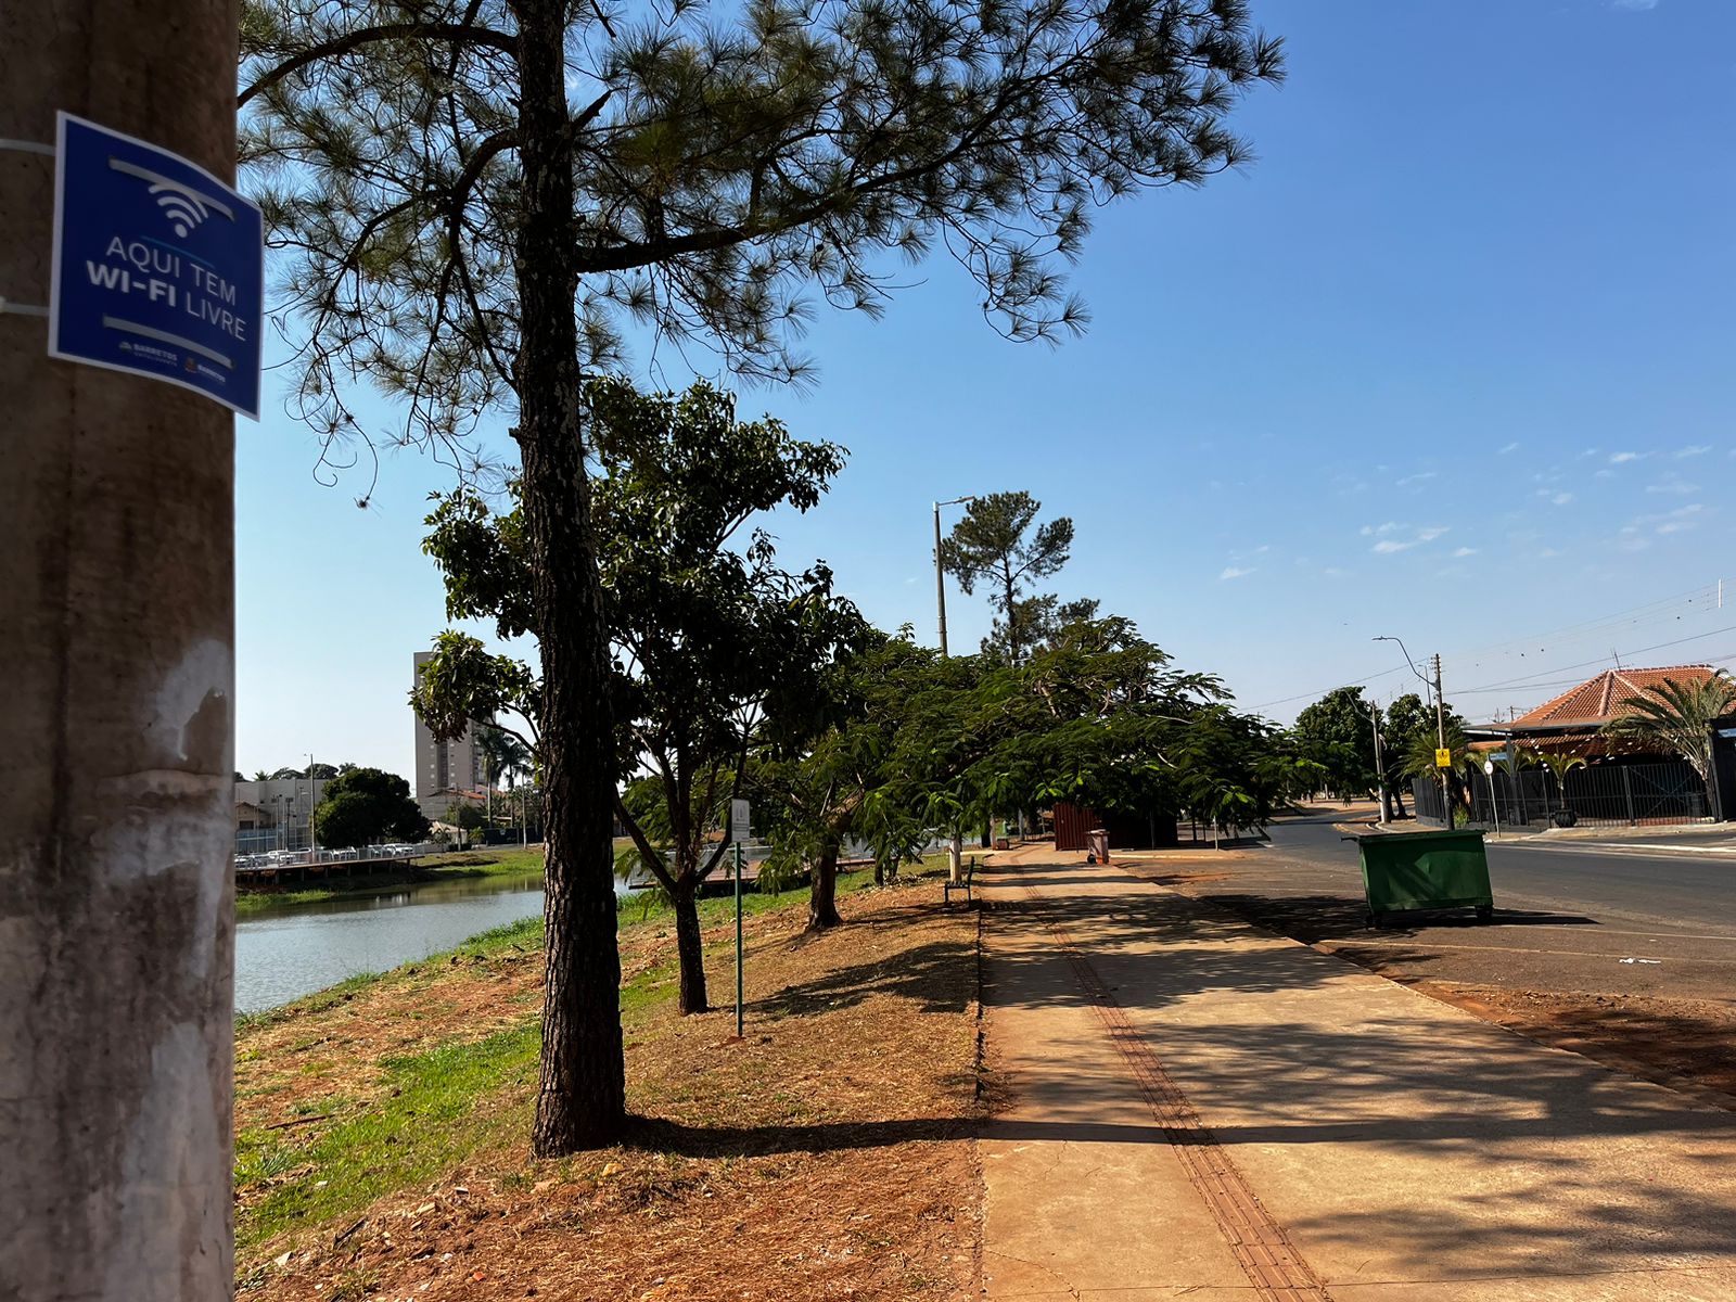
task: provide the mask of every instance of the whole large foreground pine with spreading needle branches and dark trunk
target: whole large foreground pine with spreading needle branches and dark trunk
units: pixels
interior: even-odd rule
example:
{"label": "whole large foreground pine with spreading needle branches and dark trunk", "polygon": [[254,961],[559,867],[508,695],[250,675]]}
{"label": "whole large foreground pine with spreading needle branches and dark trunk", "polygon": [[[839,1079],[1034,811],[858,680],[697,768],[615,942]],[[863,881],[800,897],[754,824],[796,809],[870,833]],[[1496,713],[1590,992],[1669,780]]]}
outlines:
{"label": "whole large foreground pine with spreading needle branches and dark trunk", "polygon": [[467,434],[509,413],[519,443],[547,738],[536,1153],[625,1121],[583,370],[630,316],[800,377],[811,288],[878,312],[889,255],[936,245],[1007,337],[1057,339],[1085,312],[1055,264],[1095,205],[1241,163],[1226,116],[1279,76],[1241,0],[243,5],[241,156],[285,250],[300,413],[352,437],[366,375],[403,399],[399,441],[469,467]]}

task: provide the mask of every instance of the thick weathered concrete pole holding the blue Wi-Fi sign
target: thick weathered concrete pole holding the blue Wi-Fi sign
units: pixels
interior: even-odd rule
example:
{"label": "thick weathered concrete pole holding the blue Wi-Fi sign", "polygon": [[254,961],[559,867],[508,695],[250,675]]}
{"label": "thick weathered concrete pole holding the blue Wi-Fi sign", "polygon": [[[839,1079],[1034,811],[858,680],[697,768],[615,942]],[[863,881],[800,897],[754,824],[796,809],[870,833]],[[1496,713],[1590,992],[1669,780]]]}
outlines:
{"label": "thick weathered concrete pole holding the blue Wi-Fi sign", "polygon": [[234,418],[40,309],[56,111],[233,177],[236,10],[0,5],[5,1299],[233,1290]]}

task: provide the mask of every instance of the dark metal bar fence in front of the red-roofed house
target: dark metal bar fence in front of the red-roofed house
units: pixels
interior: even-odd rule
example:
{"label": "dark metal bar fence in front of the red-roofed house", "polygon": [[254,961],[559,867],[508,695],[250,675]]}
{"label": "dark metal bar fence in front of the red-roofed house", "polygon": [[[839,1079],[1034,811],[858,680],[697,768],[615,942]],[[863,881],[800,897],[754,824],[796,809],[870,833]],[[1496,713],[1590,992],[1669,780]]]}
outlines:
{"label": "dark metal bar fence in front of the red-roofed house", "polygon": [[[1417,816],[1441,821],[1441,785],[1411,783]],[[1463,809],[1463,806],[1460,806]],[[1641,826],[1698,823],[1710,818],[1706,785],[1684,760],[1601,764],[1573,769],[1557,781],[1549,769],[1502,767],[1470,781],[1469,826]]]}

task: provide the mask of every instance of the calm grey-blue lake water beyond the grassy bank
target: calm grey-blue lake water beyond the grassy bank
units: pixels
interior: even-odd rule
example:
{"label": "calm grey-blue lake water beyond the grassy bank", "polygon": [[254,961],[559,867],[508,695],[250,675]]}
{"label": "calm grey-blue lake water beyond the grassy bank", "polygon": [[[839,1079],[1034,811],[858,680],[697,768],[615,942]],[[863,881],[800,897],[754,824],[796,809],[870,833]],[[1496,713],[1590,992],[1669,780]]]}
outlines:
{"label": "calm grey-blue lake water beyond the grassy bank", "polygon": [[542,873],[439,882],[255,913],[234,929],[234,1007],[274,1009],[359,972],[385,972],[451,950],[490,927],[533,917],[542,917]]}

